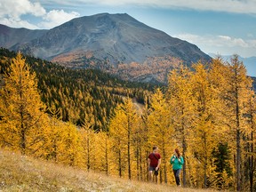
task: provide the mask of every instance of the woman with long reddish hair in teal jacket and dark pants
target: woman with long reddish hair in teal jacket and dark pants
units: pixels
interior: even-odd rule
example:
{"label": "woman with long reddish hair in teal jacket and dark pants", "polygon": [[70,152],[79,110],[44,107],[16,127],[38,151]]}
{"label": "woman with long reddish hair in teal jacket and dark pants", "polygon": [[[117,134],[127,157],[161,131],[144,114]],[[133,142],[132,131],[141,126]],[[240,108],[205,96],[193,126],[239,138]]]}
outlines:
{"label": "woman with long reddish hair in teal jacket and dark pants", "polygon": [[180,155],[180,151],[178,148],[175,148],[174,155],[170,159],[170,164],[172,164],[172,170],[174,173],[176,184],[180,187],[180,171],[182,169],[182,164],[184,164],[184,160],[183,157]]}

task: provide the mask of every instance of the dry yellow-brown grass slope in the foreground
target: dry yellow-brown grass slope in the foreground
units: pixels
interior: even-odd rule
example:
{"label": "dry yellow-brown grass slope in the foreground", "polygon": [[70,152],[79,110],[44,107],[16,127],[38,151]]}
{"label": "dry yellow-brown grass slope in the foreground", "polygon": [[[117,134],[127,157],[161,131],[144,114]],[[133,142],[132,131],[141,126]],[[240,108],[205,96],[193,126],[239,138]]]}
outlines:
{"label": "dry yellow-brown grass slope in the foreground", "polygon": [[205,190],[124,180],[0,150],[0,191],[188,192]]}

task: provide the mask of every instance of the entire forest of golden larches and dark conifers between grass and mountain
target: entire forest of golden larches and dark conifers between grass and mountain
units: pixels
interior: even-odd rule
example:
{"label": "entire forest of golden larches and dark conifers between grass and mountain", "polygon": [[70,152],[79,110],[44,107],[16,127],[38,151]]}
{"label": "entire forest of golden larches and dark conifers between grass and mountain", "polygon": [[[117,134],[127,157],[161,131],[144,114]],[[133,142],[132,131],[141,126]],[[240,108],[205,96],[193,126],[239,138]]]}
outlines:
{"label": "entire forest of golden larches and dark conifers between grass and mountain", "polygon": [[[97,73],[93,75],[95,78],[91,76],[91,81],[89,77],[84,79],[84,71],[79,71],[82,74],[79,75],[40,60],[25,60],[20,53],[12,61],[2,57],[1,62],[1,70],[7,71],[0,90],[1,148],[88,172],[148,181],[147,158],[156,145],[161,154],[158,183],[166,185],[175,183],[170,157],[174,148],[180,148],[185,159],[181,173],[183,187],[255,191],[255,92],[252,78],[247,76],[237,55],[230,63],[217,58],[209,65],[198,61],[192,68],[173,69],[164,92],[160,88],[152,94],[141,92],[147,96],[144,97],[145,107],[140,111],[131,98],[121,101],[118,96],[122,93],[139,98],[136,93],[141,88],[134,88],[134,84],[121,84],[117,80],[112,83]],[[34,72],[41,64],[45,76]],[[61,76],[54,76],[57,72],[53,68],[58,68]],[[92,70],[87,72],[94,74]],[[52,82],[48,76],[54,76]],[[37,78],[42,81],[38,83],[43,84],[42,91],[38,89]],[[69,83],[69,79],[74,81]],[[64,86],[66,81],[67,87]],[[55,86],[47,90],[46,84]],[[87,89],[89,84],[93,86]],[[98,89],[100,91],[96,92]],[[112,93],[105,94],[108,89]],[[41,96],[44,94],[50,99],[44,99]],[[54,94],[60,99],[52,100]],[[109,113],[111,110],[113,113],[107,116],[107,108],[100,104],[112,94],[117,98],[116,107],[111,108]],[[69,100],[74,95],[77,99]],[[51,103],[50,108],[45,103]],[[74,121],[76,105],[86,109],[90,106],[95,114],[85,111],[83,124]],[[68,106],[67,122],[63,121],[62,106]],[[75,114],[73,119],[71,108]],[[102,114],[106,114],[106,118]],[[95,129],[95,116],[102,118],[106,128]]]}

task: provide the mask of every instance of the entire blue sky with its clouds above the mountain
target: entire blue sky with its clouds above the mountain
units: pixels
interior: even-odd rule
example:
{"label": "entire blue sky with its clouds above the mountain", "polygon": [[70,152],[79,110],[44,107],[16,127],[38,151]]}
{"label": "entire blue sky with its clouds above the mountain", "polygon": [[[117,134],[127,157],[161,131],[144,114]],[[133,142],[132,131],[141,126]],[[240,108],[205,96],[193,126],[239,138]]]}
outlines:
{"label": "entire blue sky with its clouds above the mountain", "polygon": [[100,12],[128,13],[205,53],[256,56],[256,0],[0,0],[0,23],[53,28]]}

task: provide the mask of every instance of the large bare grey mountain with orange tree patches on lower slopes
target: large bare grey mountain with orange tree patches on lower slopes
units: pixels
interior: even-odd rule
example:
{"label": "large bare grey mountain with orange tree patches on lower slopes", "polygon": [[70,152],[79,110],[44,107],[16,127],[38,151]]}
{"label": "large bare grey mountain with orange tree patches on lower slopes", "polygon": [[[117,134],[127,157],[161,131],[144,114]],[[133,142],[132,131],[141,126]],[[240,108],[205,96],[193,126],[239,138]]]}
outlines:
{"label": "large bare grey mountain with orange tree patches on lower slopes", "polygon": [[166,82],[168,71],[180,63],[211,60],[195,44],[150,28],[126,13],[101,13],[47,31],[28,30],[31,38],[35,36],[32,40],[13,31],[9,33],[15,36],[10,38],[12,44],[6,40],[3,44],[0,34],[1,46],[71,68],[100,68],[134,81]]}

